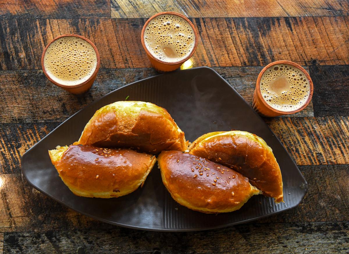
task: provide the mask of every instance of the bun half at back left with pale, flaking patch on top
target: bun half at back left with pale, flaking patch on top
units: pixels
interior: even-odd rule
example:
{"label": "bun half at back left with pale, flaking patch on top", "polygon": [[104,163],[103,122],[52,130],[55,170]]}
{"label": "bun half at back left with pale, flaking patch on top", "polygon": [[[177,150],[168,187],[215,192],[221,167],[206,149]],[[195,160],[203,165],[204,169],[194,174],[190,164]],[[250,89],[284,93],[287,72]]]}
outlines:
{"label": "bun half at back left with pale, flaking patch on top", "polygon": [[117,101],[97,110],[78,141],[100,147],[134,147],[157,154],[185,151],[188,141],[166,109],[150,102]]}

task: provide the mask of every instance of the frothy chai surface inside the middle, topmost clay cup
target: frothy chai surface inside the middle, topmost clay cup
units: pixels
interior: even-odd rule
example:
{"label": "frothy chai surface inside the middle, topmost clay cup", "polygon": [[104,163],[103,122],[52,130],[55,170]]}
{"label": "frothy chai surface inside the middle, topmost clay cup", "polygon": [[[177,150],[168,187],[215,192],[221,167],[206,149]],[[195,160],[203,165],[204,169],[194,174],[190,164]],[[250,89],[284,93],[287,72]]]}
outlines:
{"label": "frothy chai surface inside the middle, topmost clay cup", "polygon": [[179,62],[191,54],[195,45],[194,31],[182,17],[171,14],[153,18],[144,30],[144,44],[156,59]]}

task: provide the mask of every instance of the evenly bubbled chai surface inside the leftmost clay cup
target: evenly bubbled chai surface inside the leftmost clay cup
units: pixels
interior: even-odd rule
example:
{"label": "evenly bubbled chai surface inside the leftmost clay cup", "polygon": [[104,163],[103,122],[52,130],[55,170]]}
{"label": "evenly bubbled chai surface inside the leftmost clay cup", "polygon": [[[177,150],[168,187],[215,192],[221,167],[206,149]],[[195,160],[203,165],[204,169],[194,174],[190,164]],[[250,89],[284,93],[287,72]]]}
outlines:
{"label": "evenly bubbled chai surface inside the leftmost clay cup", "polygon": [[78,85],[92,76],[97,67],[97,55],[86,40],[65,36],[55,40],[46,49],[44,67],[55,82]]}

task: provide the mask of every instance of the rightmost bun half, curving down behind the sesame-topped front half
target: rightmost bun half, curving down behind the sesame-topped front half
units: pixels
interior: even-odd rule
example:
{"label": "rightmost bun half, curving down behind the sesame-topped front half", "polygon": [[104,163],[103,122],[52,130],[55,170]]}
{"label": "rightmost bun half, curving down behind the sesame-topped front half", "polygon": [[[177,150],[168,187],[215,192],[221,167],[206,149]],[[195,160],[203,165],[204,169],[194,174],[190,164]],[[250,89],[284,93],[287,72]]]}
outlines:
{"label": "rightmost bun half, curving down behind the sesame-topped front half", "polygon": [[255,134],[246,131],[207,133],[190,148],[190,154],[233,167],[264,195],[274,198],[275,202],[283,201],[279,164],[272,149]]}

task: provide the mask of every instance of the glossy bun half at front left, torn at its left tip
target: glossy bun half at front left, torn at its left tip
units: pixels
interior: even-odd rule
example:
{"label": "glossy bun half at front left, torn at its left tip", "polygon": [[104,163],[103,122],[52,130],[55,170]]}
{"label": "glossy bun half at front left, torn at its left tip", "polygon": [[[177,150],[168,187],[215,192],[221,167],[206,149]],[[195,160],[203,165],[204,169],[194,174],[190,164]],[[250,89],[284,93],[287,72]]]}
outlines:
{"label": "glossy bun half at front left, torn at its left tip", "polygon": [[130,149],[71,145],[50,150],[59,176],[77,196],[112,198],[135,191],[153,168],[154,155]]}

